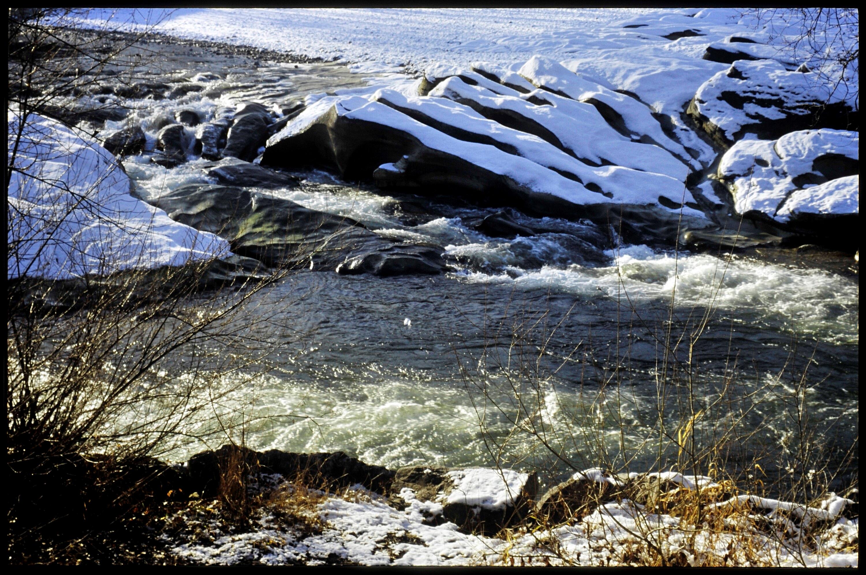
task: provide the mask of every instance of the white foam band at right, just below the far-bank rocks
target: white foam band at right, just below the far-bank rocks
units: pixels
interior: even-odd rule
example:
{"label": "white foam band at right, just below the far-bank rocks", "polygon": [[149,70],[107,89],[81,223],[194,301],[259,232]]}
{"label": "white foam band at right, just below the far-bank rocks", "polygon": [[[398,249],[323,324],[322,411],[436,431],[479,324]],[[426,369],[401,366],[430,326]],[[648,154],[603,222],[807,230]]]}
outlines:
{"label": "white foam band at right, just below the far-bank rocks", "polygon": [[[676,307],[717,307],[737,320],[768,322],[786,331],[836,343],[858,342],[856,282],[818,269],[783,266],[713,255],[657,252],[630,246],[608,252],[615,265],[588,268],[545,265],[537,271],[509,270],[457,274],[474,283],[514,283],[522,289],[553,289],[585,296],[604,295],[625,305],[669,302]],[[515,273],[516,272],[516,273]]]}

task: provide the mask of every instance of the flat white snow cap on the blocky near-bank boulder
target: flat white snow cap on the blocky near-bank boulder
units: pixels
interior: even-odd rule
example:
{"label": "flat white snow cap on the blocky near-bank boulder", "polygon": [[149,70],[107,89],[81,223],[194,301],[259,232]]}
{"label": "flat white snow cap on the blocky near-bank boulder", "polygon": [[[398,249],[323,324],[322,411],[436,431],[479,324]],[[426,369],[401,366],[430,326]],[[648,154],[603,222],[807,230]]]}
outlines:
{"label": "flat white snow cap on the blocky near-bank boulder", "polygon": [[469,468],[449,471],[454,488],[445,503],[462,503],[497,511],[513,506],[529,475],[513,469]]}

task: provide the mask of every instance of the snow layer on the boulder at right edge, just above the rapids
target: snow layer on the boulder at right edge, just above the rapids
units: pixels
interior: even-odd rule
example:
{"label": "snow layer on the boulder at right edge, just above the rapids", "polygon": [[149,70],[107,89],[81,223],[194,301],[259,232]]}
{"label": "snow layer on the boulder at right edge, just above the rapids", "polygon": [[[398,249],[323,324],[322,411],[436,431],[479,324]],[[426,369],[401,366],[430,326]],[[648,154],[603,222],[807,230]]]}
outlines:
{"label": "snow layer on the boulder at right edge, just above the rapids", "polygon": [[860,135],[846,130],[800,130],[778,140],[743,139],[725,152],[718,175],[734,186],[734,208],[759,210],[780,222],[795,213],[859,212],[860,178],[848,176],[798,189],[793,178],[817,173],[816,158],[859,159]]}

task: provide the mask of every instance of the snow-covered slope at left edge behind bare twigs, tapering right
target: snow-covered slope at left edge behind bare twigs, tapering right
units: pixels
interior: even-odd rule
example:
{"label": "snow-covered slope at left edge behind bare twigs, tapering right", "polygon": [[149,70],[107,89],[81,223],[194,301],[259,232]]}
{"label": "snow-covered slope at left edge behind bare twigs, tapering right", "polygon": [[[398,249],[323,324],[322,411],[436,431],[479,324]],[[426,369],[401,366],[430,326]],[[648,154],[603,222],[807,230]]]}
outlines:
{"label": "snow-covered slope at left edge behind bare twigs, tapering right", "polygon": [[[19,122],[8,113],[10,153]],[[11,171],[8,279],[109,275],[231,255],[223,239],[132,197],[112,154],[56,120],[29,115]]]}

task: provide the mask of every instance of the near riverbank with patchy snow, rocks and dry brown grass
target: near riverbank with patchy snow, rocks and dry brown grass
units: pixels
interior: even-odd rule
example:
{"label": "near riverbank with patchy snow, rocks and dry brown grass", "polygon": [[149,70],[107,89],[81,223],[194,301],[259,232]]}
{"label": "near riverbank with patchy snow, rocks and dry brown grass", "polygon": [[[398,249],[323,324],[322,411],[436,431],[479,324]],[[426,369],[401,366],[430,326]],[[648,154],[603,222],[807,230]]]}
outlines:
{"label": "near riverbank with patchy snow, rocks and dry brown grass", "polygon": [[[226,449],[196,455],[176,473],[201,480],[207,469],[218,472],[216,462],[227,455]],[[163,536],[171,552],[208,564],[514,565],[509,558],[516,557],[520,564],[640,565],[642,553],[648,552],[646,546],[641,551],[641,542],[651,537],[670,561],[682,565],[708,560],[721,565],[857,565],[856,552],[851,552],[859,529],[858,520],[850,519],[855,516],[851,512],[856,514],[855,501],[837,494],[806,507],[734,496],[704,476],[613,475],[592,468],[535,501],[534,476],[511,469],[421,465],[391,471],[342,453],[277,450],[249,452],[249,457],[262,466],[256,484],[267,484],[276,494],[268,501],[292,501],[300,491],[301,501],[312,494],[316,503],[288,521],[279,503],[262,507],[252,530],[243,533],[233,533],[213,509],[203,524],[184,507],[177,517],[191,527]],[[318,477],[336,483],[321,491],[291,482],[298,469],[308,472],[311,464]],[[283,477],[289,482],[283,483]],[[688,500],[696,489],[706,500],[706,513],[725,515],[728,528],[695,529],[664,511],[670,501]],[[204,490],[201,495],[210,496]],[[310,533],[297,526],[301,516],[323,523]],[[751,529],[747,518],[766,520],[770,530]],[[527,521],[539,528],[521,531]],[[195,525],[206,528],[209,537],[192,533]],[[516,529],[507,540],[494,536],[504,526]]]}

